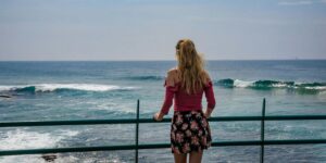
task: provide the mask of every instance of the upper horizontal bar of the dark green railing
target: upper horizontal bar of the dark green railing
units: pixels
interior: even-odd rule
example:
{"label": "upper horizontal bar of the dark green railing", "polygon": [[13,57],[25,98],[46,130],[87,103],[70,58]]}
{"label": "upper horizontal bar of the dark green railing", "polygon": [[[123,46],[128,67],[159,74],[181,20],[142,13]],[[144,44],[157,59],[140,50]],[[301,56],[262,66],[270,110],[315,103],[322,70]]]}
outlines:
{"label": "upper horizontal bar of the dark green railing", "polygon": [[[227,121],[261,121],[261,116],[215,116],[210,117],[210,122]],[[326,115],[273,115],[265,116],[265,121],[294,121],[294,120],[326,120]],[[155,122],[153,118],[139,118],[139,123],[166,123],[171,118],[164,118]],[[61,125],[100,125],[100,124],[135,124],[134,118],[120,120],[76,120],[76,121],[43,121],[43,122],[1,122],[0,127],[18,127],[18,126],[61,126]]]}

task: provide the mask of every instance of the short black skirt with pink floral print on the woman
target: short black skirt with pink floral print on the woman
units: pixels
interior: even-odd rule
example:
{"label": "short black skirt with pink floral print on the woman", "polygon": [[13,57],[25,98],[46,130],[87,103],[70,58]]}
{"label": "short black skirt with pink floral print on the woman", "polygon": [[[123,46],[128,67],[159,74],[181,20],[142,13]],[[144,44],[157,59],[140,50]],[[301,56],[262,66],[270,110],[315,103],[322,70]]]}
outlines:
{"label": "short black skirt with pink floral print on the woman", "polygon": [[211,129],[200,111],[175,111],[171,124],[172,153],[190,153],[211,147]]}

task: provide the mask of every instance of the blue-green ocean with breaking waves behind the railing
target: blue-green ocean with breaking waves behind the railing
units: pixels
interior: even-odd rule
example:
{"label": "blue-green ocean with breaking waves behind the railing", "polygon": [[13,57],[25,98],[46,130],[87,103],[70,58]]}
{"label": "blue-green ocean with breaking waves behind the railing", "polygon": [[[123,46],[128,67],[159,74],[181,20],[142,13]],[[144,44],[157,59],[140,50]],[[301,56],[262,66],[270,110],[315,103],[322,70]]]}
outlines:
{"label": "blue-green ocean with breaking waves behind the railing", "polygon": [[[0,62],[0,121],[152,117],[176,61]],[[212,116],[325,115],[326,60],[206,61],[214,82]],[[202,100],[205,108],[205,98]],[[167,117],[173,114],[173,106]],[[265,139],[325,139],[325,121],[265,122]],[[259,140],[260,122],[211,122],[213,141]],[[139,143],[170,142],[170,124],[140,124]],[[0,150],[135,143],[135,125],[0,128]],[[59,153],[55,162],[134,162],[135,151]],[[211,147],[204,163],[259,162],[260,147]],[[139,162],[173,162],[171,149],[140,150]],[[40,154],[1,163],[45,162]],[[266,146],[265,162],[326,162],[326,145]]]}

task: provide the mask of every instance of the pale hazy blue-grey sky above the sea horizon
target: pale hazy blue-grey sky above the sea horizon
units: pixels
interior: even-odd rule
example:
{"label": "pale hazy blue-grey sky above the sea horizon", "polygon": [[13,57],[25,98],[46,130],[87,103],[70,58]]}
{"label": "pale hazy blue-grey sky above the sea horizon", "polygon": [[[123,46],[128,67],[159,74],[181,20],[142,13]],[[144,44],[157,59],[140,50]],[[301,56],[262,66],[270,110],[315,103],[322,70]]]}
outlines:
{"label": "pale hazy blue-grey sky above the sea horizon", "polygon": [[1,0],[0,60],[326,59],[326,0]]}

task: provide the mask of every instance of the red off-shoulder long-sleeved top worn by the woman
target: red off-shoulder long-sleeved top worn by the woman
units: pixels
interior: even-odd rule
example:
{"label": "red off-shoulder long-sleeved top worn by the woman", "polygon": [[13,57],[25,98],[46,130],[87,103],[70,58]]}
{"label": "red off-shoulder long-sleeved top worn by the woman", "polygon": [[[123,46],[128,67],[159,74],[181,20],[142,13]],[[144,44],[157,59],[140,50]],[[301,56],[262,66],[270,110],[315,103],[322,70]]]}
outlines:
{"label": "red off-shoulder long-sleeved top worn by the woman", "polygon": [[165,78],[164,83],[165,99],[161,109],[162,113],[168,113],[168,110],[173,103],[173,99],[174,111],[202,110],[201,100],[203,92],[206,97],[208,109],[213,110],[215,108],[215,98],[211,79],[209,79],[209,83],[203,90],[193,95],[188,95],[185,90],[180,89],[180,83],[177,80],[177,73],[178,72],[175,68],[167,72],[167,77]]}

